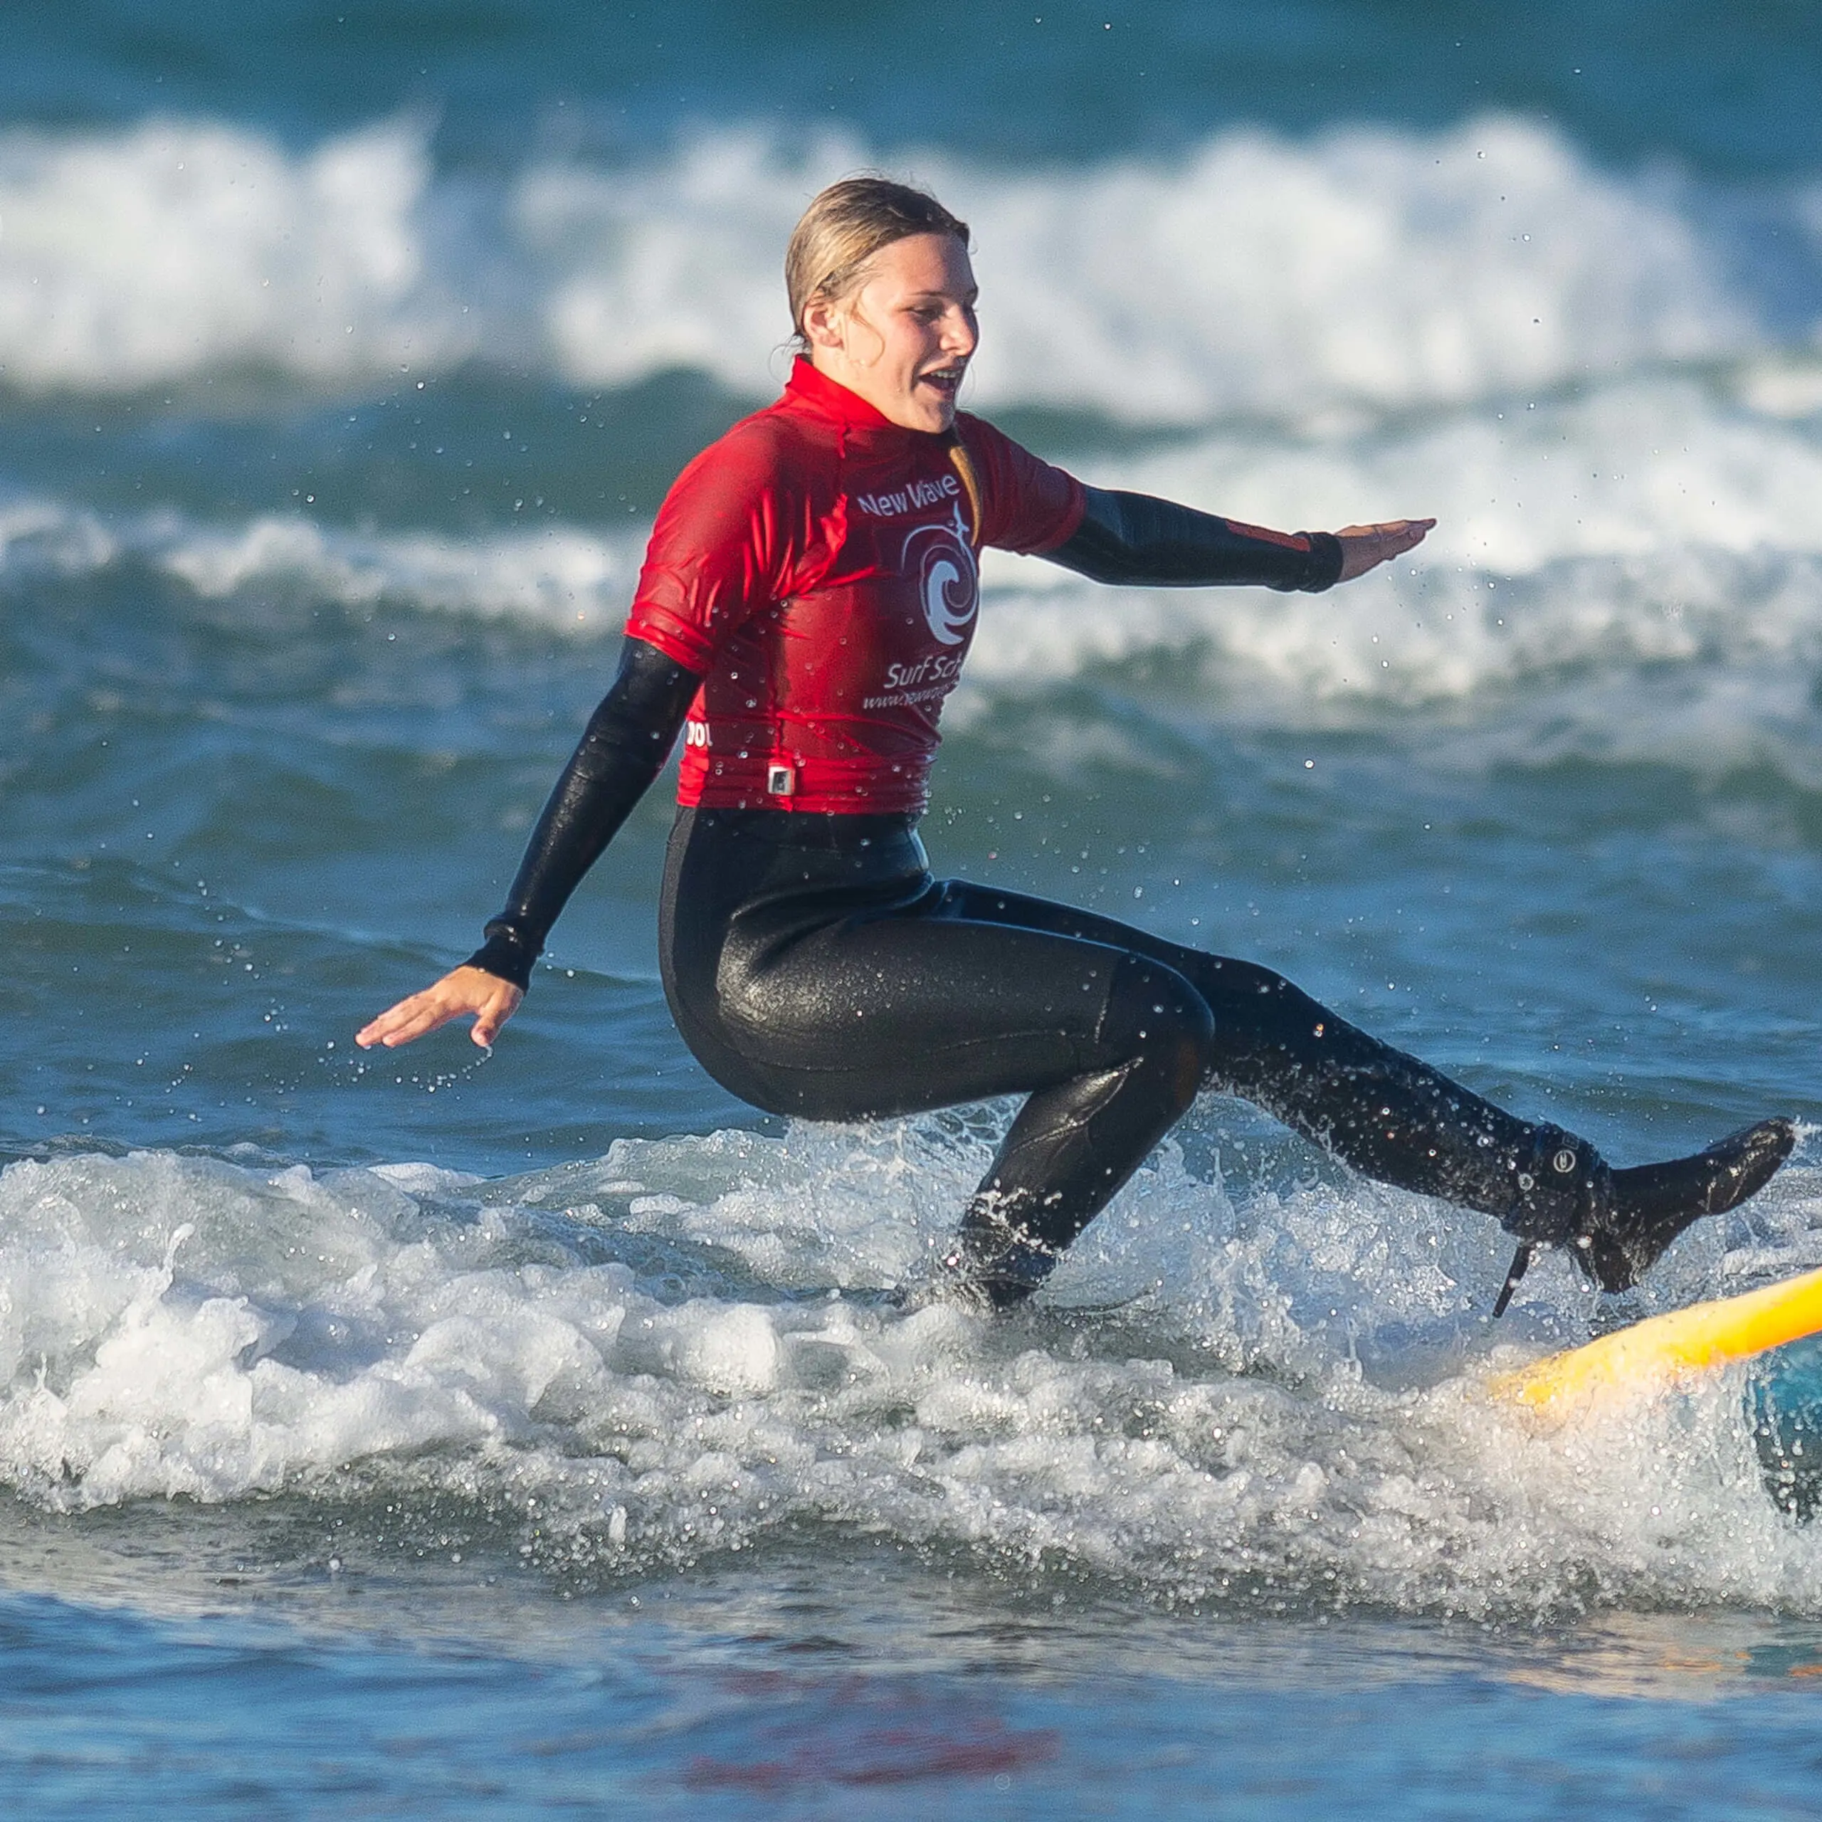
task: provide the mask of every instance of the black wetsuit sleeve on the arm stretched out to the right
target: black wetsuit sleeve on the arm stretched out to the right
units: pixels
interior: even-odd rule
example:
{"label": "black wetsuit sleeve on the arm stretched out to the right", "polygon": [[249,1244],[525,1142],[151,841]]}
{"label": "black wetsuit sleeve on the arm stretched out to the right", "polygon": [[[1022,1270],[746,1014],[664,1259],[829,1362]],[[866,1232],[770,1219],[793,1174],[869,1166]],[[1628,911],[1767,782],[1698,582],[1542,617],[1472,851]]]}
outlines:
{"label": "black wetsuit sleeve on the arm stretched out to the right", "polygon": [[1315,594],[1341,579],[1334,532],[1268,532],[1150,494],[1082,492],[1075,532],[1042,554],[1090,581],[1146,589],[1263,583]]}

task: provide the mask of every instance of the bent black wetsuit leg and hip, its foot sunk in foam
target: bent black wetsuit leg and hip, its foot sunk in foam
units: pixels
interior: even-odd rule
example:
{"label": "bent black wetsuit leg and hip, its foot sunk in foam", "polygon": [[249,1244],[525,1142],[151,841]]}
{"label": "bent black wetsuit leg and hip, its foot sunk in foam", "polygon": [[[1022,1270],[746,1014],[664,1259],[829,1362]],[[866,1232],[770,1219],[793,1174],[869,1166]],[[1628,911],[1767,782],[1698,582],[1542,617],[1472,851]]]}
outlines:
{"label": "bent black wetsuit leg and hip, its foot sunk in foam", "polygon": [[698,1059],[769,1111],[867,1119],[1029,1095],[964,1223],[969,1275],[995,1301],[1035,1288],[1212,1066],[1208,1004],[1168,964],[955,915],[889,853],[856,865],[782,836],[762,853],[732,818],[672,844],[661,955]]}

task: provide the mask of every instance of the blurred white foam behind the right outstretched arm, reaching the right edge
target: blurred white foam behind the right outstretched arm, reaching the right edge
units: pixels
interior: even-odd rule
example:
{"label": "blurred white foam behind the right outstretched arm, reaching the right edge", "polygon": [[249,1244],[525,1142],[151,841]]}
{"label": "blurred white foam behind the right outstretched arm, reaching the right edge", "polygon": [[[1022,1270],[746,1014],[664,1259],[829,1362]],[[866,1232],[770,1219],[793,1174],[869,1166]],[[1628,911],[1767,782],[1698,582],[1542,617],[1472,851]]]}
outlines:
{"label": "blurred white foam behind the right outstretched arm, reaching the right edge", "polygon": [[1168,650],[1224,712],[1323,722],[1523,689],[1603,751],[1733,763],[1815,745],[1822,445],[1736,388],[1653,377],[1361,435],[1215,434],[1088,477],[1264,525],[1439,523],[1325,596],[1110,596],[989,552],[975,712],[984,687]]}

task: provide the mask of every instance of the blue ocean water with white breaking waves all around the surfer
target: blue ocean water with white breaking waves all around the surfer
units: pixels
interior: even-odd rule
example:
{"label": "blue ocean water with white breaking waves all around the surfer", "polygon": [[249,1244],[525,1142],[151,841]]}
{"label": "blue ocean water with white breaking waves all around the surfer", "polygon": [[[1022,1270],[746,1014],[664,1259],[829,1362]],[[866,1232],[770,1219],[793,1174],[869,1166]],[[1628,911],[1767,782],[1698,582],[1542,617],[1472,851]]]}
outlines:
{"label": "blue ocean water with white breaking waves all around the surfer", "polygon": [[[805,199],[975,230],[969,403],[1330,596],[988,567],[940,871],[1270,962],[1616,1162],[1815,1122],[1813,5],[16,7],[0,58],[11,1813],[1809,1815],[1822,1357],[1611,1319],[1204,1097],[1039,1303],[1006,1106],[731,1100],[669,791],[459,960]],[[1815,1131],[1649,1314],[1822,1264]]]}

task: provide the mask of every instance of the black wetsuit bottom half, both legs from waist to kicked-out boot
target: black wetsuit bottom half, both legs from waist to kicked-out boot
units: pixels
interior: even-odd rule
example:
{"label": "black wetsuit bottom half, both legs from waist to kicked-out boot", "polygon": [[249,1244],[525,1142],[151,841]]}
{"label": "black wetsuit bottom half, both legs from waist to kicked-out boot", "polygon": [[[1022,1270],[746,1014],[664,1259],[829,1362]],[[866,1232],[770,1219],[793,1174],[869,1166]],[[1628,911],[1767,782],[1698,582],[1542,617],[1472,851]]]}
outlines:
{"label": "black wetsuit bottom half, both legs from waist to kicked-out boot", "polygon": [[1272,969],[1070,906],[949,882],[904,818],[700,813],[665,873],[665,991],[691,1049],[776,1113],[867,1119],[1024,1093],[955,1266],[1028,1295],[1188,1108],[1254,1100],[1365,1175],[1574,1241],[1605,1290],[1789,1153],[1771,1121],[1611,1172],[1337,1018]]}

